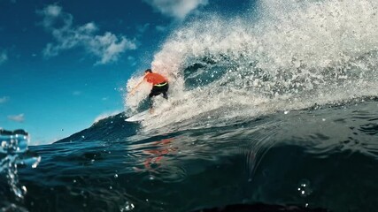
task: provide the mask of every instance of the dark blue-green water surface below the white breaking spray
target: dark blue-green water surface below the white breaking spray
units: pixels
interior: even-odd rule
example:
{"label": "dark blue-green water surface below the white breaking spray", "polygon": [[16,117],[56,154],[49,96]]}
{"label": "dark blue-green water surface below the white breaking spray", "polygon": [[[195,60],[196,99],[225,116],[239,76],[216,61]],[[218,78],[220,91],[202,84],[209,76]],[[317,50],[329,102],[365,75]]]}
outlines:
{"label": "dark blue-green water surface below the white breaking spray", "polygon": [[29,147],[28,155],[40,155],[41,162],[19,165],[17,186],[27,189],[21,198],[4,168],[2,210],[378,207],[378,102],[277,112],[150,137],[124,119],[109,117],[65,140]]}

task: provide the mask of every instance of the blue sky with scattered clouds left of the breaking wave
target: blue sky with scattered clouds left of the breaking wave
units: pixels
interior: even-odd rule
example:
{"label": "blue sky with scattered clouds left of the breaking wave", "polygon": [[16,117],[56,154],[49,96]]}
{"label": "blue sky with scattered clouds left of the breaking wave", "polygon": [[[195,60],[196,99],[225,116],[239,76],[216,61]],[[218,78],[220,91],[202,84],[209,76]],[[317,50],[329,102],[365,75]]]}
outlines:
{"label": "blue sky with scattered clouds left of the breaking wave", "polygon": [[124,110],[123,88],[166,37],[238,0],[0,0],[0,127],[46,144]]}

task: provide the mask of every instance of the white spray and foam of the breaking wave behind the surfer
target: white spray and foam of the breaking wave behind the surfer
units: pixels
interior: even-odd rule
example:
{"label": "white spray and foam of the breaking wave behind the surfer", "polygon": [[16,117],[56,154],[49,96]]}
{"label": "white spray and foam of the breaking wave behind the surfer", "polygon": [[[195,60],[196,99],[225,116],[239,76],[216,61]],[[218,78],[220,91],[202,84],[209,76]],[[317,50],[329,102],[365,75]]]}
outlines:
{"label": "white spray and foam of the breaking wave behind the surfer", "polygon": [[[152,62],[153,70],[170,79],[170,101],[179,103],[143,125],[214,125],[375,96],[377,8],[372,0],[265,0],[237,18],[190,21],[171,34]],[[135,110],[149,89],[127,96],[126,107]],[[189,120],[197,116],[202,119]]]}

